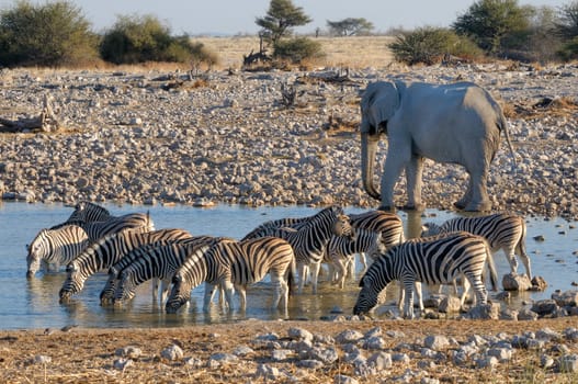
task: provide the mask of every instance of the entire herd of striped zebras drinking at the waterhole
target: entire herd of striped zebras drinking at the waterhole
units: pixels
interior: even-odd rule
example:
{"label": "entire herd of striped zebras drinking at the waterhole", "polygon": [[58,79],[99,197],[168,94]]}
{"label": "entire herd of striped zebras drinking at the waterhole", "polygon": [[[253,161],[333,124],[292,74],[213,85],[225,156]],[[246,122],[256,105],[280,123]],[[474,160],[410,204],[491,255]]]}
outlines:
{"label": "entire herd of striped zebras drinking at the waterhole", "polygon": [[80,202],[65,223],[39,230],[27,246],[26,276],[33,278],[41,266],[56,270],[66,266],[59,301],[67,303],[87,279],[107,272],[100,302],[114,306],[125,305],[138,285],[151,281],[154,301],[160,301],[167,313],[175,313],[202,283],[205,310],[217,292],[224,310],[235,307],[235,292],[239,308],[245,310],[247,287],[269,274],[274,291],[272,307],[286,314],[294,286],[302,294],[310,282],[311,292],[317,293],[321,263],[342,289],[348,275],[354,278],[359,255],[364,274],[353,313],[367,314],[385,286],[397,280],[399,309],[411,318],[413,293],[423,308],[421,283],[450,284],[463,278],[462,304],[468,287],[474,290],[476,303],[487,303],[484,272],[489,270],[496,289],[492,252],[500,249],[512,273],[517,273],[518,256],[531,276],[524,241],[524,221],[509,214],[428,223],[421,237],[406,240],[403,222],[395,213],[345,215],[342,207],[329,206],[307,217],[262,223],[236,240],[193,236],[177,228],[155,229],[148,213],[112,216],[98,204]]}

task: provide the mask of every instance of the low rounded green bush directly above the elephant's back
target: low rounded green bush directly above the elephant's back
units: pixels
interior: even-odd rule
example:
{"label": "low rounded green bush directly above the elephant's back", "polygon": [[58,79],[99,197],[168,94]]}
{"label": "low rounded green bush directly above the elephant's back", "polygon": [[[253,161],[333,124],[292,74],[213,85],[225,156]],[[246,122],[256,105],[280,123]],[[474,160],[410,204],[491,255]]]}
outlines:
{"label": "low rounded green bush directly above the elephant's back", "polygon": [[431,26],[401,32],[388,47],[397,61],[408,65],[432,65],[446,54],[467,59],[481,56],[480,49],[469,39],[451,30]]}

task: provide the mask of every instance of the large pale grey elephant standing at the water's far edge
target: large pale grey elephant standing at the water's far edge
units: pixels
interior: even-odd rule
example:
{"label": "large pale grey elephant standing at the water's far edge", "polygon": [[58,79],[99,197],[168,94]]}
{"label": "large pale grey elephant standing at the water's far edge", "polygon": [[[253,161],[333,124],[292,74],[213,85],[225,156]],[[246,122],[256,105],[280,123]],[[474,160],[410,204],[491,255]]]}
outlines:
{"label": "large pale grey elephant standing at the water's far edge", "polygon": [[[361,99],[361,171],[367,193],[382,201],[381,210],[395,210],[394,187],[405,168],[408,202],[421,203],[423,158],[453,162],[469,174],[467,191],[456,207],[489,211],[486,190],[490,163],[503,131],[511,155],[507,122],[498,103],[472,82],[451,84],[372,82]],[[388,138],[381,196],[373,183],[375,153],[381,134]]]}

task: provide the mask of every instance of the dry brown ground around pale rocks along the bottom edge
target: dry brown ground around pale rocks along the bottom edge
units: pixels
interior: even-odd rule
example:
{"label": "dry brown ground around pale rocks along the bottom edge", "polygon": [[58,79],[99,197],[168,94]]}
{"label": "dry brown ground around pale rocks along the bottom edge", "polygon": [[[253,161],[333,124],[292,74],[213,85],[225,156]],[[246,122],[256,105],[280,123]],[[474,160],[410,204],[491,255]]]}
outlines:
{"label": "dry brown ground around pale rocks along the bottom edge", "polygon": [[[299,383],[331,383],[339,373],[355,376],[353,365],[338,360],[322,369],[297,368],[298,357],[291,355],[283,361],[273,361],[272,350],[252,341],[258,335],[275,332],[286,338],[292,327],[305,328],[313,334],[336,337],[343,330],[356,329],[366,332],[381,327],[383,332],[397,331],[401,337],[384,335],[385,349],[393,350],[403,343],[422,346],[426,336],[443,334],[464,342],[472,335],[522,335],[549,328],[562,332],[575,327],[571,317],[537,321],[499,321],[499,320],[385,320],[361,323],[328,321],[242,321],[231,325],[207,325],[166,329],[78,329],[70,332],[56,330],[45,335],[43,330],[3,331],[0,332],[0,370],[2,381],[9,383],[263,383],[287,382],[287,380],[267,381],[256,377],[257,366],[264,363],[282,372],[291,372]],[[189,365],[184,360],[168,361],[161,351],[179,345],[184,359],[199,359],[199,366]],[[576,342],[566,342],[569,353],[577,353]],[[117,349],[128,346],[141,350],[141,355],[124,371],[115,369],[114,362],[120,357]],[[236,363],[209,366],[207,362],[214,353],[231,353],[238,346],[249,346],[253,353],[239,358]],[[553,369],[540,365],[540,355],[546,353],[557,359],[563,352],[547,347],[547,351],[515,349],[510,363],[501,363],[496,370],[475,368],[474,362],[454,365],[451,351],[455,346],[445,348],[449,361],[440,362],[427,369],[427,376],[435,377],[442,383],[576,383],[576,373],[560,374]],[[339,348],[340,349],[340,348]],[[419,350],[419,348],[418,348]],[[401,376],[407,370],[423,372],[418,365],[428,360],[419,352],[403,349],[411,355],[410,361],[394,362],[379,376],[356,379],[360,382],[388,382]],[[369,357],[373,352],[365,351]],[[35,362],[35,358],[45,355],[50,362]],[[340,358],[343,352],[340,353]],[[36,358],[37,359],[37,358]],[[416,377],[412,382],[419,382]]]}

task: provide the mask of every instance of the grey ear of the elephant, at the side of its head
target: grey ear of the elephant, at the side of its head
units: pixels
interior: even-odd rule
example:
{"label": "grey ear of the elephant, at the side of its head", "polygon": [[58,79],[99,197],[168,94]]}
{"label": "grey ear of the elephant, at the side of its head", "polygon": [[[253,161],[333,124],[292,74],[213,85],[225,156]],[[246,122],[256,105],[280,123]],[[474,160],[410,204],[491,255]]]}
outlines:
{"label": "grey ear of the elephant, at the side of its head", "polygon": [[[379,81],[367,86],[361,102],[361,111],[365,124],[374,128],[387,122],[399,108],[399,93],[393,82]],[[363,129],[362,132],[370,132]]]}

